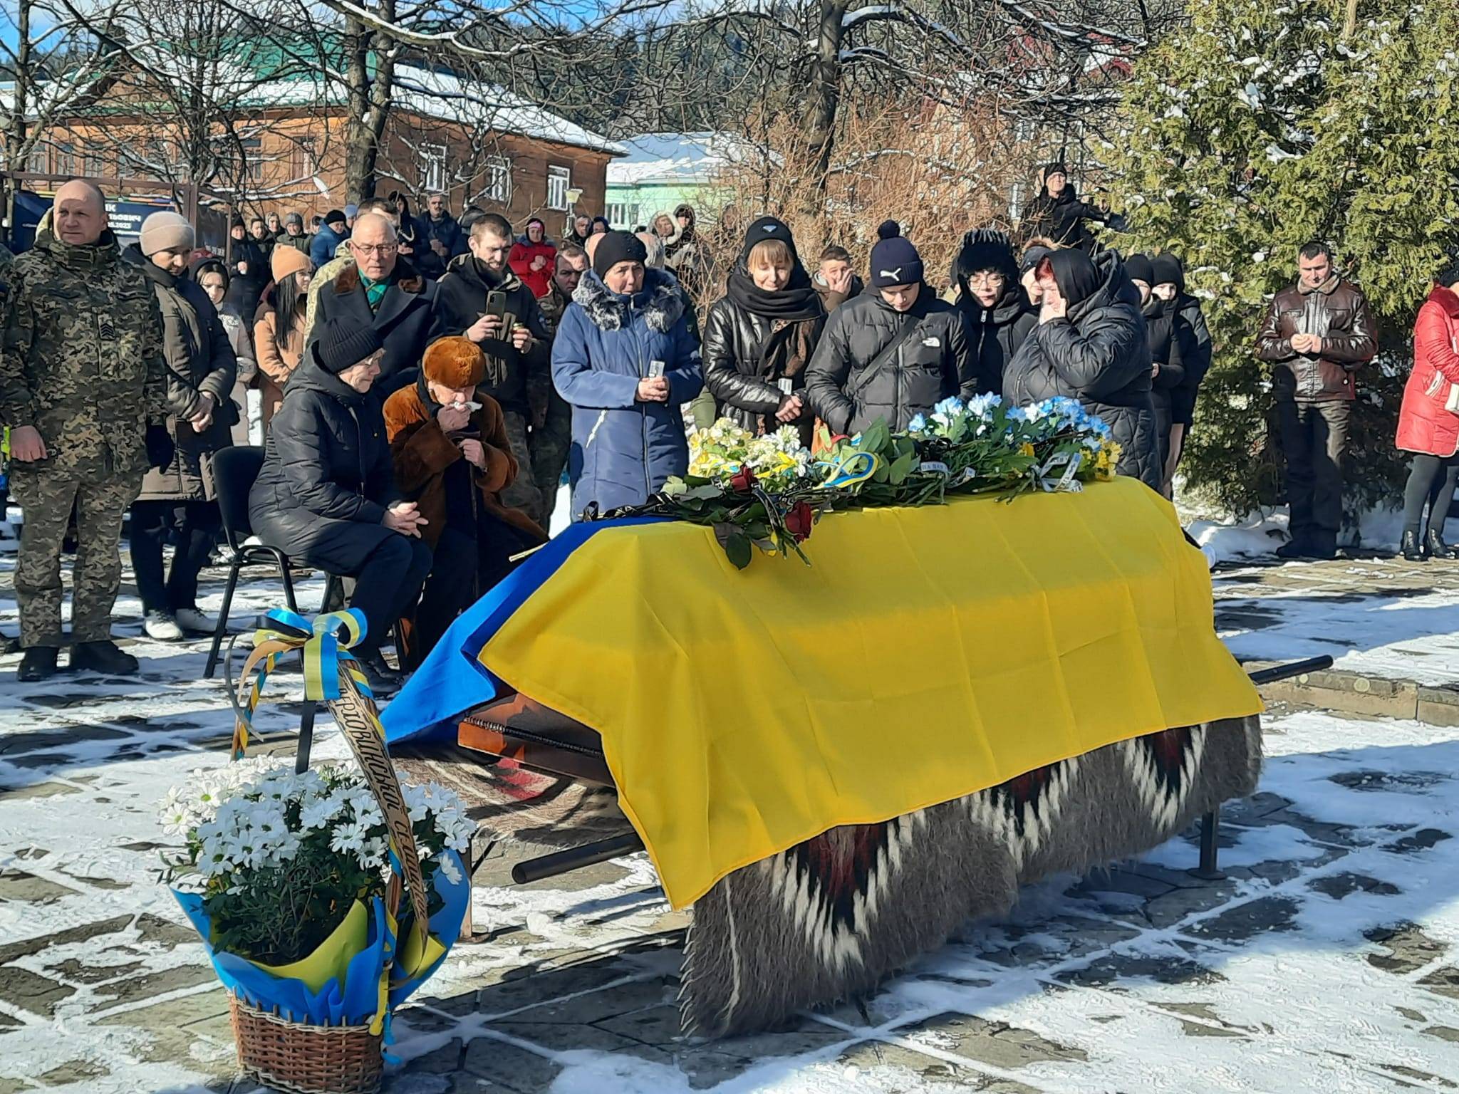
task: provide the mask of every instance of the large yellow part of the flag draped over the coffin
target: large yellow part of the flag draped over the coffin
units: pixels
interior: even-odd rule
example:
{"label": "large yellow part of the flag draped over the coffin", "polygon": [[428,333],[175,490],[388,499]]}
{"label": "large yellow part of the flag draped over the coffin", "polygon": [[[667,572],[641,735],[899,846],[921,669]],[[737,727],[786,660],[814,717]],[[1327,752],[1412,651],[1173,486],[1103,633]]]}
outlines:
{"label": "large yellow part of the flag draped over the coffin", "polygon": [[603,735],[676,907],[837,824],[1262,709],[1134,478],[835,513],[805,548],[738,572],[708,528],[603,531],[480,653]]}

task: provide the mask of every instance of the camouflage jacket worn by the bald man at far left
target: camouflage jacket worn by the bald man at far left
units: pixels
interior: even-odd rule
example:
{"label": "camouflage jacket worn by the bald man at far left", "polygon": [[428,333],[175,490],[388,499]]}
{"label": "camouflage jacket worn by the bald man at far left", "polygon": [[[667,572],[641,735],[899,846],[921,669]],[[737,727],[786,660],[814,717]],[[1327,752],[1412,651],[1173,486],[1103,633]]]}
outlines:
{"label": "camouflage jacket worn by the bald man at far left", "polygon": [[42,220],[6,274],[0,422],[41,432],[42,468],[146,470],[147,424],[187,408],[168,404],[162,312],[142,271],[109,229],[74,247]]}

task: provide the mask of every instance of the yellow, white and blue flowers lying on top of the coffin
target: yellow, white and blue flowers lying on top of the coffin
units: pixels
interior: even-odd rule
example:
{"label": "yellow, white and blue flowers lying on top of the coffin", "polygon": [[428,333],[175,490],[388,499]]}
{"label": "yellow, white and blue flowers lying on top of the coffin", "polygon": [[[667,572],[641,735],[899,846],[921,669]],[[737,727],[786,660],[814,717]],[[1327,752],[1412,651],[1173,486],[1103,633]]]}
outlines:
{"label": "yellow, white and blue flowers lying on top of the coffin", "polygon": [[1071,398],[1030,407],[998,395],[947,398],[903,433],[883,422],[851,438],[823,430],[814,454],[791,426],[756,436],[721,419],[689,436],[689,474],[636,512],[711,525],[740,569],[751,547],[808,563],[801,544],[835,509],[1078,490],[1112,478],[1118,461],[1109,426]]}

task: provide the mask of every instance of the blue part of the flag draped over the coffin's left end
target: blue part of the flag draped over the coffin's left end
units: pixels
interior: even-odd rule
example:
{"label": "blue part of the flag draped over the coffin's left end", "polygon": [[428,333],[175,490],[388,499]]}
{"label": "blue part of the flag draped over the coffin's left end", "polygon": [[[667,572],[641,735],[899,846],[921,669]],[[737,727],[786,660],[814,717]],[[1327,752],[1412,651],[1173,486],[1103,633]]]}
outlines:
{"label": "blue part of the flag draped over the coffin's left end", "polygon": [[410,681],[400,690],[381,713],[385,726],[385,741],[429,741],[455,742],[457,721],[473,707],[496,699],[502,681],[493,677],[477,653],[487,639],[498,632],[514,611],[546,582],[568,556],[591,537],[605,528],[629,528],[648,524],[652,516],[633,516],[622,521],[595,521],[569,525],[550,540],[546,547],[533,553],[479,600],[461,613],[451,629],[430,651],[425,664],[416,670]]}

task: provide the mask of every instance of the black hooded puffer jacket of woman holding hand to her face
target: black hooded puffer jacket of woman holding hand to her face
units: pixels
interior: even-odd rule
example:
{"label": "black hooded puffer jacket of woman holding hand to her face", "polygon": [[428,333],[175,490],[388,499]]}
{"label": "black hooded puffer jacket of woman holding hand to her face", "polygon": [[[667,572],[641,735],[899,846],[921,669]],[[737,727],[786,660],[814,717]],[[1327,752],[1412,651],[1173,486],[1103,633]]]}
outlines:
{"label": "black hooded puffer jacket of woman holding hand to her face", "polygon": [[1008,363],[1004,398],[1021,407],[1055,395],[1077,398],[1115,432],[1119,473],[1160,490],[1163,468],[1139,290],[1113,251],[1096,255],[1094,268],[1099,289],[1072,305],[1068,317],[1040,324]]}

